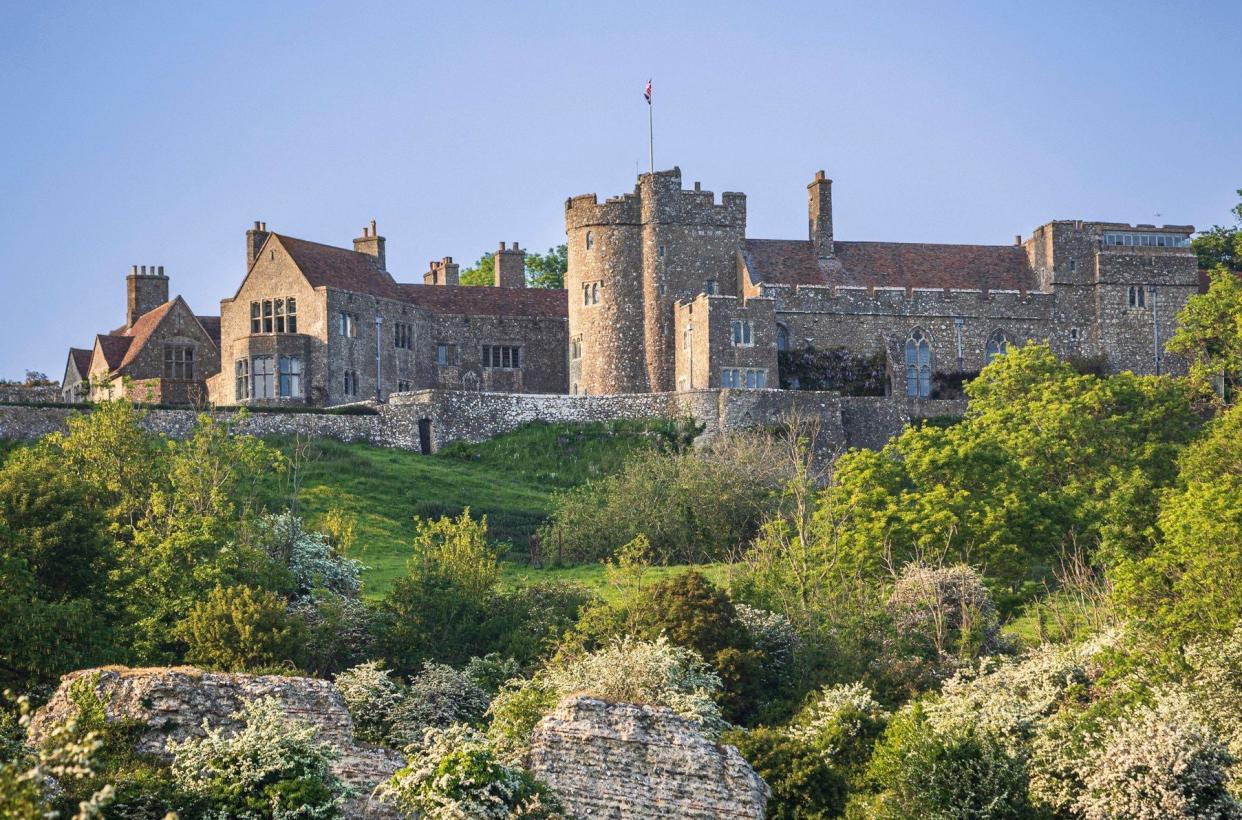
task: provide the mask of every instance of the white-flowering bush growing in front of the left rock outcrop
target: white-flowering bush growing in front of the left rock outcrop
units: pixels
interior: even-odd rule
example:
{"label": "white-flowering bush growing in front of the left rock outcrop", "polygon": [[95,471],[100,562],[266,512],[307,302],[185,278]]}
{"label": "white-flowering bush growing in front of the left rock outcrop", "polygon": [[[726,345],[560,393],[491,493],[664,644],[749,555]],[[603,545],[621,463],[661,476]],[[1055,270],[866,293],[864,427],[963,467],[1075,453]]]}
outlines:
{"label": "white-flowering bush growing in front of the left rock outcrop", "polygon": [[204,721],[201,738],[169,742],[173,778],[209,798],[211,820],[333,820],[349,790],[330,764],[338,754],[315,742],[318,729],[289,719],[273,698],[245,703],[241,729],[226,734]]}

